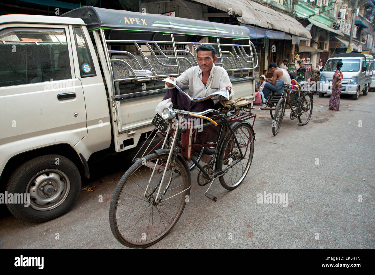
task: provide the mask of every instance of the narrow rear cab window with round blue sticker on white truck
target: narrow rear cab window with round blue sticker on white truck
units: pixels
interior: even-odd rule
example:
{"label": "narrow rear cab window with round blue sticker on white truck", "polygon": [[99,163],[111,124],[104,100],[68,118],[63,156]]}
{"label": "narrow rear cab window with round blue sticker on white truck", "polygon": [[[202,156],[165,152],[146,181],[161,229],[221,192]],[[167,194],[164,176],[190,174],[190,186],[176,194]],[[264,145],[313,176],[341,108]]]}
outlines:
{"label": "narrow rear cab window with round blue sticker on white truck", "polygon": [[96,76],[93,60],[81,27],[74,27],[75,46],[77,47],[81,77]]}

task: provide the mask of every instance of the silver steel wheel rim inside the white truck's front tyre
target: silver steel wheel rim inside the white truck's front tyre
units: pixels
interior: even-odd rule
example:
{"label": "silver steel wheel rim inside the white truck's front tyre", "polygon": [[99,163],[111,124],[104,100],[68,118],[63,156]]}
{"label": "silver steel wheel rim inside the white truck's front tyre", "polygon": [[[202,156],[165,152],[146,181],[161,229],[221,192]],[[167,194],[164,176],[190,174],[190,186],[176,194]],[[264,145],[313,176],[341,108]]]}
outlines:
{"label": "silver steel wheel rim inside the white truck's front tyre", "polygon": [[28,182],[26,193],[30,194],[30,207],[39,211],[56,208],[68,196],[68,176],[57,169],[43,170]]}

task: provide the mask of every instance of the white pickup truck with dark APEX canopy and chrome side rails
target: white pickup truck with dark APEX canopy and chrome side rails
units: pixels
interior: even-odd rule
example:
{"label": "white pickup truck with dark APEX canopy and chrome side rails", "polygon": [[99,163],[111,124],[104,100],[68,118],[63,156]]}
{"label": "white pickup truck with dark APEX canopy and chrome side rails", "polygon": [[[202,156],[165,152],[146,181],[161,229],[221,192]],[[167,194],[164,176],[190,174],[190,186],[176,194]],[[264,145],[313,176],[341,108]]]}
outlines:
{"label": "white pickup truck with dark APEX canopy and chrome side rails", "polygon": [[196,66],[202,43],[252,106],[246,76],[258,60],[246,27],[91,6],[0,16],[0,193],[30,196],[10,212],[35,223],[68,212],[91,161],[153,130],[162,79]]}

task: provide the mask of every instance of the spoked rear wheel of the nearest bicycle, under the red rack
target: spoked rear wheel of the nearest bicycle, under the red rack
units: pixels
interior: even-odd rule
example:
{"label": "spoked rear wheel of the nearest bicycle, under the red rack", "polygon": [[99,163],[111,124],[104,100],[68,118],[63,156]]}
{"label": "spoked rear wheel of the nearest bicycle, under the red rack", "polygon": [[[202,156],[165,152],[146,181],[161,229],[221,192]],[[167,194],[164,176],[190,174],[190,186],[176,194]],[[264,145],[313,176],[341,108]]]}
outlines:
{"label": "spoked rear wheel of the nearest bicycle, under the red rack", "polygon": [[251,126],[248,123],[241,123],[233,129],[233,132],[234,135],[230,133],[225,138],[218,156],[218,168],[228,169],[219,176],[220,184],[227,190],[233,190],[241,184],[249,172],[254,154],[254,135]]}

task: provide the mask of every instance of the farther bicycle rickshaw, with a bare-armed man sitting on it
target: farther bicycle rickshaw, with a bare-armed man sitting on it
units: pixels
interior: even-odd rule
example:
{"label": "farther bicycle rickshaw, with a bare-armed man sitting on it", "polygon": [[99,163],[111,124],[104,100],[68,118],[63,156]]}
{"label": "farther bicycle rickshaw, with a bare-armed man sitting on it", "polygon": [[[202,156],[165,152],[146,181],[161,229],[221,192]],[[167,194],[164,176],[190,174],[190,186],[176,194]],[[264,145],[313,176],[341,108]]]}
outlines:
{"label": "farther bicycle rickshaw, with a bare-armed man sitting on it", "polygon": [[[261,110],[270,110],[272,118],[272,133],[276,136],[280,130],[285,109],[290,109],[290,119],[298,118],[297,125],[308,124],[311,115],[314,97],[310,91],[301,91],[302,84],[285,84],[282,93],[272,91],[269,99],[263,105]],[[307,90],[307,89],[306,89]]]}

